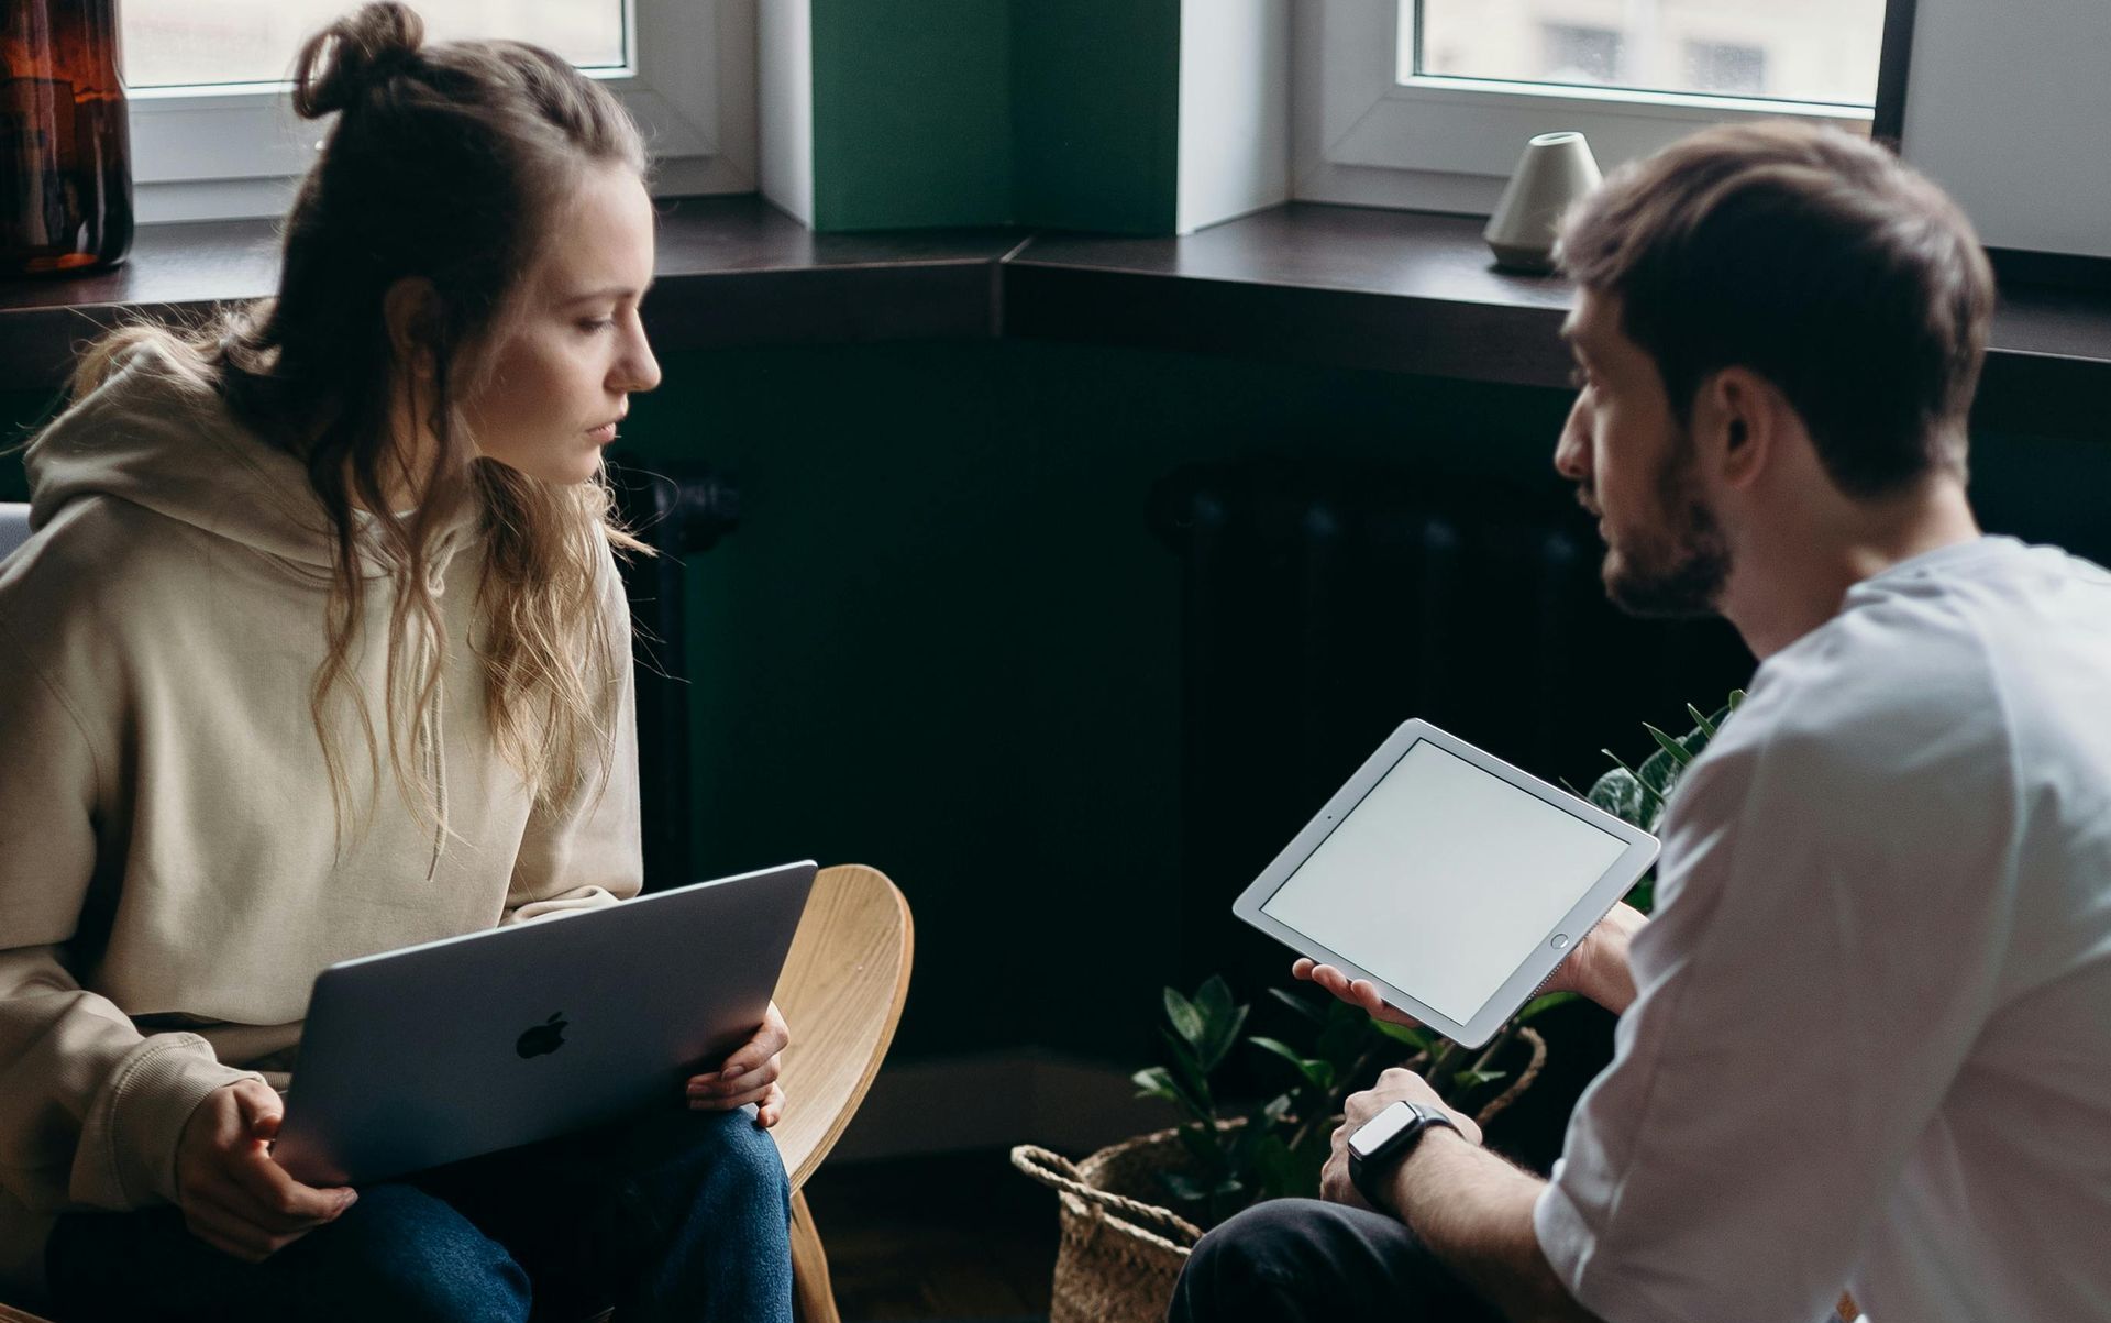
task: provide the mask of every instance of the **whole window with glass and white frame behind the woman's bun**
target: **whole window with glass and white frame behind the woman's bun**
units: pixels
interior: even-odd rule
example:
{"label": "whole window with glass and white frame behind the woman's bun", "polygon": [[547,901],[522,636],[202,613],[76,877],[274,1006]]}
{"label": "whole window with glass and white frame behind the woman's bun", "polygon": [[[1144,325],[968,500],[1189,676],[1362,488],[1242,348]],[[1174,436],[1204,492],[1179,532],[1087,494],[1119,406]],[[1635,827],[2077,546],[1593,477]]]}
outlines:
{"label": "whole window with glass and white frame behind the woman's bun", "polygon": [[[346,0],[127,0],[139,219],[279,215],[317,127],[287,106],[300,42]],[[429,40],[507,36],[602,78],[646,129],[659,192],[754,188],[754,0],[424,0]]]}

